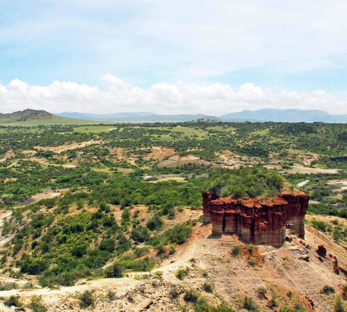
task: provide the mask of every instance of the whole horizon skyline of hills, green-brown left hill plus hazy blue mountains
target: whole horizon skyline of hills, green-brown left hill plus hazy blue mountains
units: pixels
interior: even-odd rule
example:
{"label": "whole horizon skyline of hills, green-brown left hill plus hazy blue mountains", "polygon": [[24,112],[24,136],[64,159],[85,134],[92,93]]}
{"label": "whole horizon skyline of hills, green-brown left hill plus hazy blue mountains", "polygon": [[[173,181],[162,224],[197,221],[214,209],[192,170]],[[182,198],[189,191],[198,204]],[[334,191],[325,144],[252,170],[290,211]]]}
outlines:
{"label": "whole horizon skyline of hills, green-brown left hill plus hazy blue mountains", "polygon": [[273,122],[330,122],[347,123],[347,115],[331,115],[319,110],[277,110],[262,109],[257,111],[242,111],[224,114],[219,117],[205,114],[179,114],[157,115],[151,112],[138,113],[114,113],[114,114],[88,114],[88,113],[60,113],[51,114],[46,111],[27,109],[9,114],[0,113],[0,123],[14,122],[44,122],[50,124],[81,124],[102,122],[184,122],[191,120],[215,120],[215,121],[273,121]]}

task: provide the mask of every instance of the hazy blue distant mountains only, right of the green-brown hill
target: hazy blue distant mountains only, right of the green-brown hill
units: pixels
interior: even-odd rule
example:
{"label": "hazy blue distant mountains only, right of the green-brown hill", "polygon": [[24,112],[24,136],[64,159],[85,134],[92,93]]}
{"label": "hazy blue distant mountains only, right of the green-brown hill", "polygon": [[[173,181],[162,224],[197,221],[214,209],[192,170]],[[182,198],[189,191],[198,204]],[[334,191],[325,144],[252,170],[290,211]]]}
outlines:
{"label": "hazy blue distant mountains only, right of the green-brown hill", "polygon": [[242,112],[229,113],[221,116],[209,116],[204,114],[180,114],[180,115],[157,115],[151,112],[138,113],[114,113],[114,114],[87,114],[87,113],[60,113],[62,117],[114,121],[114,122],[183,122],[196,119],[210,119],[220,121],[274,121],[274,122],[340,122],[347,123],[347,115],[330,115],[319,110],[297,109],[261,109],[257,111],[245,110]]}

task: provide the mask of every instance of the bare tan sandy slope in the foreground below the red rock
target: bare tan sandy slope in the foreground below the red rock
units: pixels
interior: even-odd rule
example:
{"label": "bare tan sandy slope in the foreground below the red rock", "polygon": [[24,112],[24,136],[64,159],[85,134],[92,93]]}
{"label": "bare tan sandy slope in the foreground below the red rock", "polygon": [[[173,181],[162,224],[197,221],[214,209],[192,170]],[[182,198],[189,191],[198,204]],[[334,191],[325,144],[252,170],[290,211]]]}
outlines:
{"label": "bare tan sandy slope in the foreground below the red rock", "polygon": [[[146,214],[146,207],[134,207]],[[116,214],[116,213],[115,213]],[[177,214],[177,220],[167,220],[167,226],[194,219],[201,214],[200,210],[185,209]],[[118,216],[117,216],[118,217]],[[30,297],[42,295],[48,311],[181,311],[180,306],[186,305],[183,300],[183,289],[192,288],[211,303],[219,303],[221,299],[231,304],[236,311],[245,311],[239,306],[245,295],[261,306],[261,311],[274,311],[267,307],[272,294],[278,296],[280,306],[293,306],[300,302],[307,311],[333,311],[337,296],[341,296],[341,287],[346,284],[346,275],[333,271],[332,256],[338,260],[339,266],[347,267],[346,249],[334,242],[330,237],[305,226],[305,240],[297,237],[286,242],[281,248],[271,246],[254,246],[253,254],[247,245],[235,235],[211,235],[211,225],[197,223],[193,235],[186,243],[176,246],[173,255],[166,255],[162,263],[149,272],[129,272],[124,278],[80,280],[75,286],[59,289],[14,289],[2,291],[0,296],[19,295],[21,300],[28,302]],[[318,259],[315,249],[323,244],[327,256]],[[233,257],[232,248],[239,245],[240,255]],[[153,252],[152,252],[153,254]],[[331,256],[329,256],[331,254]],[[308,261],[303,260],[307,258]],[[248,258],[258,261],[255,267],[249,266]],[[191,259],[194,259],[193,261]],[[178,269],[189,268],[184,280],[176,278]],[[208,277],[203,277],[203,272]],[[213,294],[203,291],[203,284],[208,281],[213,285]],[[169,291],[171,285],[178,285],[181,294],[173,299]],[[335,288],[335,294],[321,293],[324,285]],[[258,287],[267,291],[266,298],[259,298]],[[85,290],[93,292],[94,306],[82,309],[77,296]],[[115,293],[111,300],[108,292]],[[293,292],[293,297],[286,294]],[[309,300],[313,301],[314,310]],[[190,311],[192,310],[192,306]],[[0,311],[8,310],[0,303]]]}

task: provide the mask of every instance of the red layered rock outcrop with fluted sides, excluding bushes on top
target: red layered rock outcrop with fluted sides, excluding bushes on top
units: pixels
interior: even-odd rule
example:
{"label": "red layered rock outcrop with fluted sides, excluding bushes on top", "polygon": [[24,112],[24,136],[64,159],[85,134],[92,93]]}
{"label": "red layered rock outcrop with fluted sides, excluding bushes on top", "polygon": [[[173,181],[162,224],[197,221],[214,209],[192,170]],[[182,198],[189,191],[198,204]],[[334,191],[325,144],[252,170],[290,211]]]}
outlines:
{"label": "red layered rock outcrop with fluted sides, excluding bushes on top", "polygon": [[281,246],[286,228],[305,236],[304,219],[310,197],[301,191],[283,191],[270,199],[219,198],[202,193],[204,220],[212,222],[212,234],[236,233],[254,244]]}

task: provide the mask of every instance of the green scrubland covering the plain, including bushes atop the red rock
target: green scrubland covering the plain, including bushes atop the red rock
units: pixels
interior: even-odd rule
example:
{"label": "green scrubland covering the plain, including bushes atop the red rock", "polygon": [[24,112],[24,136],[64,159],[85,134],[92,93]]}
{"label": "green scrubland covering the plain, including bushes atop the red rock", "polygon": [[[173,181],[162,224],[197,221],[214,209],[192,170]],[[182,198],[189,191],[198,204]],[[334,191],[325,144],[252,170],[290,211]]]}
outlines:
{"label": "green scrubland covering the plain, including bushes atop the red rock", "polygon": [[[306,222],[345,243],[347,188],[336,181],[347,181],[346,136],[345,124],[323,123],[0,126],[0,208],[6,213],[1,235],[7,239],[0,268],[10,276],[33,275],[51,288],[82,278],[151,272],[177,253],[193,224],[202,221],[178,222],[177,215],[199,209],[206,188],[220,196],[271,197],[284,184],[294,188],[304,180],[310,182],[301,190],[314,200]],[[230,252],[237,260],[243,250],[235,245]],[[254,270],[257,260],[247,261]],[[176,271],[178,281],[188,277],[187,268]],[[201,274],[208,277],[207,271]],[[18,288],[15,284],[1,287]],[[177,287],[170,293],[181,294],[194,311],[234,311],[227,303],[209,302],[206,294],[215,291],[208,280],[201,289],[204,296],[188,288],[179,293]],[[319,291],[328,296],[335,289],[326,285]],[[7,300],[21,305],[16,296]],[[95,297],[85,292],[78,300],[85,308]],[[31,304],[42,308],[39,297]],[[336,302],[336,309],[341,305]],[[239,306],[260,311],[249,296]]]}

